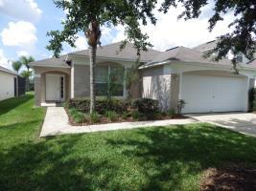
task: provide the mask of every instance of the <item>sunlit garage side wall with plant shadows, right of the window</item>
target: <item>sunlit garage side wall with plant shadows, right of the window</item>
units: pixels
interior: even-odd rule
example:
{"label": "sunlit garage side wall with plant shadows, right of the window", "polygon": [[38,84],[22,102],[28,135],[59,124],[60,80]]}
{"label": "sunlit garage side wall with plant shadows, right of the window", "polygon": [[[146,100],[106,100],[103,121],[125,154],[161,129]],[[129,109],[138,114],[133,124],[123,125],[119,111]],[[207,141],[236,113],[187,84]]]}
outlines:
{"label": "sunlit garage side wall with plant shadows, right of the window", "polygon": [[164,74],[164,68],[154,67],[142,72],[143,97],[156,99],[163,110],[168,110],[171,104],[171,74]]}

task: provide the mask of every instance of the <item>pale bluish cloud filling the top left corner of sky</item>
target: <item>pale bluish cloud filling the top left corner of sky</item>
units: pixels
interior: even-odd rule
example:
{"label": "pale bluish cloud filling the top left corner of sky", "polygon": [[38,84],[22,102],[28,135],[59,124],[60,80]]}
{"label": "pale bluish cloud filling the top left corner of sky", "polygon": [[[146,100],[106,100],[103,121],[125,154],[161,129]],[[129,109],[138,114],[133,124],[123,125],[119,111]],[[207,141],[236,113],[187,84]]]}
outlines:
{"label": "pale bluish cloud filling the top left corner of sky", "polygon": [[0,13],[17,20],[37,22],[42,11],[35,0],[0,0]]}

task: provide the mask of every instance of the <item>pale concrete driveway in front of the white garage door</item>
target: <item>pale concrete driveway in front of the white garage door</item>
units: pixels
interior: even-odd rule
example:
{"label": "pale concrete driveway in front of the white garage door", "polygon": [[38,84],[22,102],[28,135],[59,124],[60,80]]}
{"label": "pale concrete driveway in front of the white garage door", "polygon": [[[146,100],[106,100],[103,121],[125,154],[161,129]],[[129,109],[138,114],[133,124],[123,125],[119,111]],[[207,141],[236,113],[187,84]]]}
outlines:
{"label": "pale concrete driveway in front of the white garage door", "polygon": [[187,115],[200,122],[208,122],[246,135],[256,137],[256,114],[221,113]]}

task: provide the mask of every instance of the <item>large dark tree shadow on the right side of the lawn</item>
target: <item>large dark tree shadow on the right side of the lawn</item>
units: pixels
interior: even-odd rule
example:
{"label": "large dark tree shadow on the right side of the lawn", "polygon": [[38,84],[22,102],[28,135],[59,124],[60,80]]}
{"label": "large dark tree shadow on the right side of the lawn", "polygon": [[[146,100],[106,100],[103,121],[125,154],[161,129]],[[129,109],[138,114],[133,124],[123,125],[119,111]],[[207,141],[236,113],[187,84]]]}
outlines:
{"label": "large dark tree shadow on the right side of the lawn", "polygon": [[208,124],[195,129],[183,125],[141,129],[138,134],[143,138],[108,139],[107,143],[127,145],[123,154],[140,161],[149,179],[143,190],[193,190],[189,186],[209,167],[232,162],[256,167],[256,138]]}

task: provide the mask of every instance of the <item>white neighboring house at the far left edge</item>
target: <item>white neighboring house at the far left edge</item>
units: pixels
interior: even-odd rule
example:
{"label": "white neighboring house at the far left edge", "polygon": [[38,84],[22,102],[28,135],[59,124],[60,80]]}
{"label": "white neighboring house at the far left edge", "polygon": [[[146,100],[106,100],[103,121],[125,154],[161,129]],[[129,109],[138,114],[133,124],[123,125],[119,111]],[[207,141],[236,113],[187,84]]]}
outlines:
{"label": "white neighboring house at the far left edge", "polygon": [[0,66],[0,100],[25,94],[25,89],[22,89],[23,81],[18,74]]}

